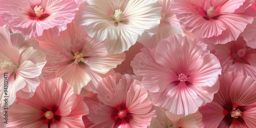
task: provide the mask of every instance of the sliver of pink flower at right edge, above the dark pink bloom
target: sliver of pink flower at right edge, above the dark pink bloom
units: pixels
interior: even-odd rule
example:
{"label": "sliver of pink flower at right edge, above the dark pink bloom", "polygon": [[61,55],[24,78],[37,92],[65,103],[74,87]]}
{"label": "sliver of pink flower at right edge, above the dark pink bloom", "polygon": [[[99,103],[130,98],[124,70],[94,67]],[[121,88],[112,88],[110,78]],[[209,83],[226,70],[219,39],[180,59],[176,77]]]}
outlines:
{"label": "sliver of pink flower at right edge, above the dark pink bloom", "polygon": [[[255,8],[256,9],[256,8]],[[256,12],[255,12],[256,13]],[[256,49],[256,18],[251,25],[247,25],[244,32],[241,33],[247,46]]]}

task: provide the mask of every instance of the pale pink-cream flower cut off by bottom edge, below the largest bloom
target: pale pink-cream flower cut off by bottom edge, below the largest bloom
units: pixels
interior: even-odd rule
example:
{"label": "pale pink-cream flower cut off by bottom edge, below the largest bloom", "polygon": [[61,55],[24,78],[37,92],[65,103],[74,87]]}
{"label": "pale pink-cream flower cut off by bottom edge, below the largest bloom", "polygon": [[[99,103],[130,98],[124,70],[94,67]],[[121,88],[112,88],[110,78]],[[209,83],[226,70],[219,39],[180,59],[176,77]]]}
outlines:
{"label": "pale pink-cream flower cut off by bottom edge, below the largest bloom", "polygon": [[191,127],[197,128],[197,123],[200,123],[202,120],[201,114],[188,114],[175,115],[171,112],[166,111],[160,106],[156,107],[157,118],[154,119],[150,127],[151,128],[168,128],[168,127]]}

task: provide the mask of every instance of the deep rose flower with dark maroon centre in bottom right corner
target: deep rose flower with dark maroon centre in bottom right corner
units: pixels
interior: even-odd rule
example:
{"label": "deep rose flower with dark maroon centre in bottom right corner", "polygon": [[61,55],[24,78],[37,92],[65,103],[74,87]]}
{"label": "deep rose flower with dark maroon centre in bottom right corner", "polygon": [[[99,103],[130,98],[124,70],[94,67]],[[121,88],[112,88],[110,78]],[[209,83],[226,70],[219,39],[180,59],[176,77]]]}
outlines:
{"label": "deep rose flower with dark maroon centre in bottom right corner", "polygon": [[199,108],[204,127],[255,127],[256,81],[238,72],[220,76],[214,100]]}

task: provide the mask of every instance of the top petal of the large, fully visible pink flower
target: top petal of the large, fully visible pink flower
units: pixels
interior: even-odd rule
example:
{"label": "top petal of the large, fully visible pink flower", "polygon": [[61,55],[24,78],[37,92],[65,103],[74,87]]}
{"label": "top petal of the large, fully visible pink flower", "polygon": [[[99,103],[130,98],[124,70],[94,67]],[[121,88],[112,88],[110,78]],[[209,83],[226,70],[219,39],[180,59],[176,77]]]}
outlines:
{"label": "top petal of the large, fully visible pink flower", "polygon": [[156,62],[173,69],[178,74],[188,73],[199,68],[198,63],[203,61],[199,58],[202,54],[202,47],[190,42],[181,35],[164,39],[156,48]]}

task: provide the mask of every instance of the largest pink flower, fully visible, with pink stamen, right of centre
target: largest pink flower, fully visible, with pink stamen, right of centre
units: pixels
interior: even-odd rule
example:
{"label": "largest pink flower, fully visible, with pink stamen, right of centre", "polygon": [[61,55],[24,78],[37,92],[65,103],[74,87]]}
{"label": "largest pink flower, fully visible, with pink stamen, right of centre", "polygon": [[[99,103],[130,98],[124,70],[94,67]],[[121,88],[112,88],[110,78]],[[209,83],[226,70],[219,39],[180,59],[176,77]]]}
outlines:
{"label": "largest pink flower, fully visible, with pink stamen, right of centre", "polygon": [[217,93],[221,66],[213,54],[181,35],[168,37],[154,49],[144,48],[131,62],[153,104],[177,115],[195,113]]}

